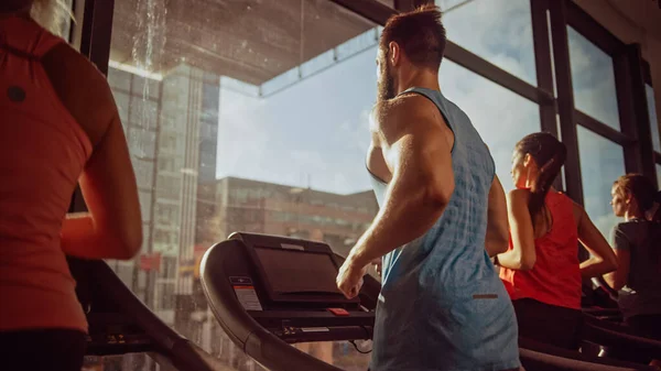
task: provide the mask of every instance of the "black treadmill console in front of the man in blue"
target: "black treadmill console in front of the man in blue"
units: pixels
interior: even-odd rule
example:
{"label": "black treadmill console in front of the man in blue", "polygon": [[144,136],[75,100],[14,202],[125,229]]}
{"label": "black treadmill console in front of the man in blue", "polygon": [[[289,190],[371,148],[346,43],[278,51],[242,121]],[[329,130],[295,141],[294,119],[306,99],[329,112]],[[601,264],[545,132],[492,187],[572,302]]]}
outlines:
{"label": "black treadmill console in front of the man in blue", "polygon": [[247,315],[285,342],[369,339],[380,285],[367,279],[370,290],[346,298],[335,283],[342,262],[326,243],[235,232],[205,254],[203,287],[237,338],[256,330],[241,329]]}

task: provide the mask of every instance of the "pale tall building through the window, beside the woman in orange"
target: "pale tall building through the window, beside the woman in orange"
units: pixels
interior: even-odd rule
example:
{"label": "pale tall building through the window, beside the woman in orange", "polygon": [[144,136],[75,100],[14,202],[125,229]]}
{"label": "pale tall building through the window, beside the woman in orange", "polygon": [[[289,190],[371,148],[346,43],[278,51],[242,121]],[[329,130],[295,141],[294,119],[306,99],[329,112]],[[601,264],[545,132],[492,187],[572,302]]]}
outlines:
{"label": "pale tall building through the window, beside the woman in orange", "polygon": [[185,64],[147,77],[113,65],[118,68],[110,68],[108,80],[124,124],[144,222],[140,264],[113,265],[172,325],[176,295],[193,290],[193,277],[180,276],[178,265],[194,259],[198,184],[216,173],[219,77]]}

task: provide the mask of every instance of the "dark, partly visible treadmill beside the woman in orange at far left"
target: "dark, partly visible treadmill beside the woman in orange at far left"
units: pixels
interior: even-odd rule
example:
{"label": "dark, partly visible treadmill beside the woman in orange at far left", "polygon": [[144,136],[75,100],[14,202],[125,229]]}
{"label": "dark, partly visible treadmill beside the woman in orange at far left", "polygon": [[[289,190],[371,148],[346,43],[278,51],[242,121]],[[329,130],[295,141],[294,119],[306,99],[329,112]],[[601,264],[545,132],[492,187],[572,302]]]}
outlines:
{"label": "dark, partly visible treadmill beside the woman in orange at far left", "polygon": [[148,353],[156,363],[176,370],[229,370],[163,323],[106,262],[71,257],[67,261],[89,324],[87,356]]}

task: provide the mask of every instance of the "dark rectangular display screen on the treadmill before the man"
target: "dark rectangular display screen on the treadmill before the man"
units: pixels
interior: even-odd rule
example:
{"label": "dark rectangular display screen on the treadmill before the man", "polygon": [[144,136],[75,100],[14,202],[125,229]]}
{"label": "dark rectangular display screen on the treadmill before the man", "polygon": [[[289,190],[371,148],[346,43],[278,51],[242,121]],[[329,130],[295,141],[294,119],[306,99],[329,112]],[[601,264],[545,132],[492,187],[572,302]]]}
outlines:
{"label": "dark rectangular display screen on the treadmill before the man", "polygon": [[340,294],[337,266],[329,254],[254,247],[266,279],[278,294]]}

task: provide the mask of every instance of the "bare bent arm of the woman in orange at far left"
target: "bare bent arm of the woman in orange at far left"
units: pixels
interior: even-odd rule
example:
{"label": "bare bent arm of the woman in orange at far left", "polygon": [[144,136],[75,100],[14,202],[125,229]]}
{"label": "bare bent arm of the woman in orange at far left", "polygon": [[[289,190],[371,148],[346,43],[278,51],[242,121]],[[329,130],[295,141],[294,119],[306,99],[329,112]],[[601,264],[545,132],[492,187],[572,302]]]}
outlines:
{"label": "bare bent arm of the woman in orange at far left", "polygon": [[130,259],[142,244],[142,218],[112,91],[105,76],[67,44],[44,55],[42,65],[59,100],[94,146],[79,178],[89,212],[64,220],[62,250],[85,259]]}

